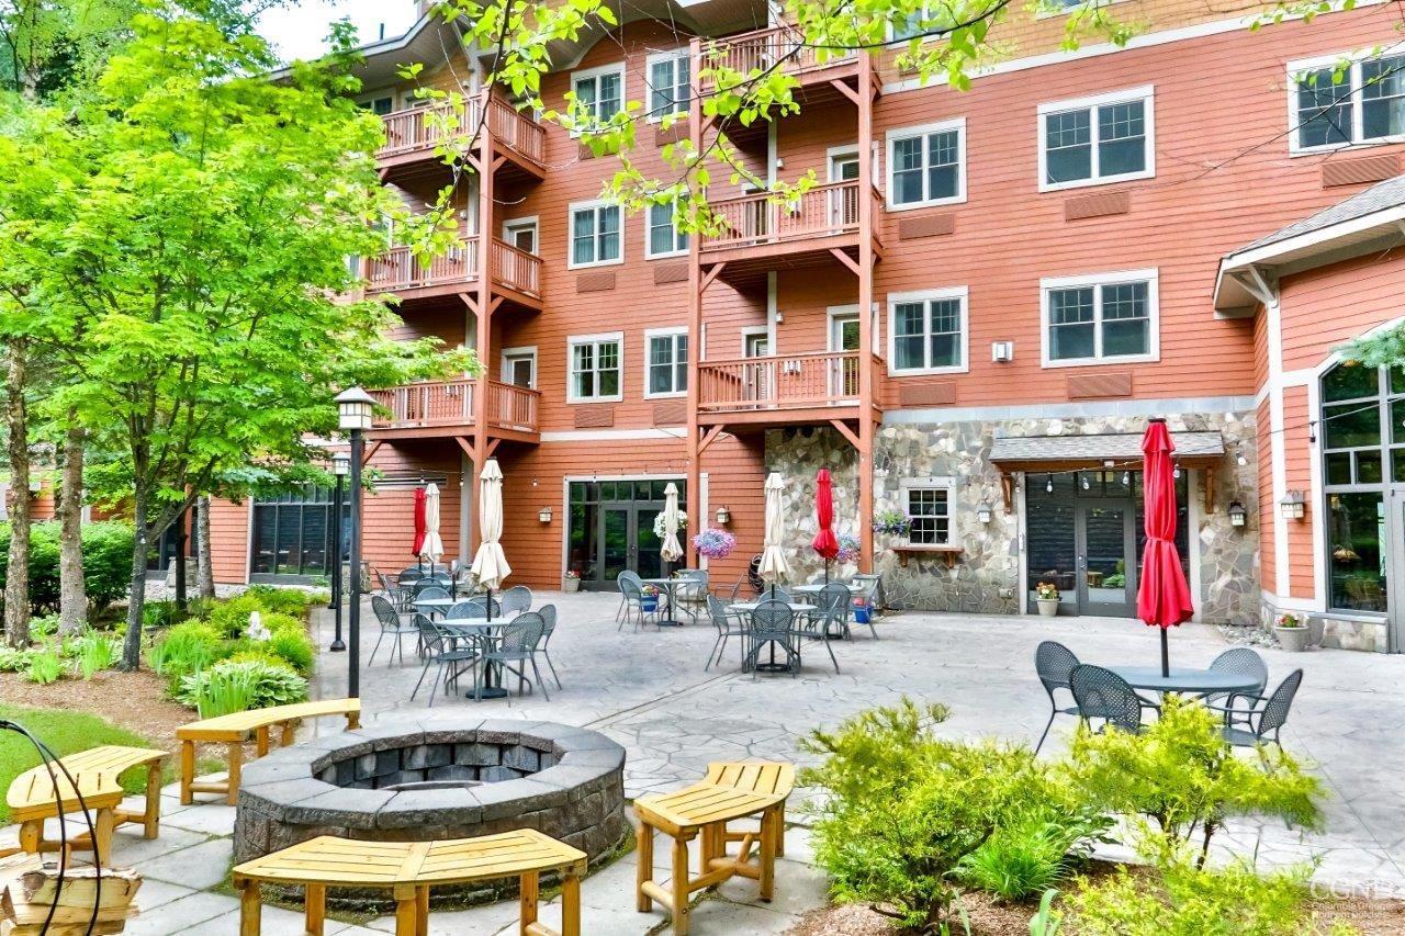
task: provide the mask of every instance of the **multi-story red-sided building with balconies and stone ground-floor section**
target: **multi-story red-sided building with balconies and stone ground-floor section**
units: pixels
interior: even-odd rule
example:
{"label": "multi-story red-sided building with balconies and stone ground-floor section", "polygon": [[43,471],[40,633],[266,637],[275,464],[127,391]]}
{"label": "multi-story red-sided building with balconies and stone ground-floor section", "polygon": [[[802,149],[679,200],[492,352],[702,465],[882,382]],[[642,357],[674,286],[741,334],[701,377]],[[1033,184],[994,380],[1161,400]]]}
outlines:
{"label": "multi-story red-sided building with balconies and stone ground-floor section", "polygon": [[[1066,613],[1132,616],[1138,441],[1165,416],[1201,620],[1300,610],[1329,644],[1405,648],[1387,585],[1405,580],[1405,382],[1336,354],[1397,320],[1405,284],[1394,7],[1250,31],[1242,11],[1130,0],[1118,17],[1152,25],[1078,52],[1059,51],[1062,17],[1012,20],[993,34],[1005,58],[957,91],[888,51],[819,60],[760,1],[653,6],[554,48],[544,98],[573,89],[600,115],[638,100],[655,118],[694,101],[638,134],[662,176],[658,149],[704,132],[700,49],[781,56],[801,112],[733,142],[762,177],[821,184],[792,205],[717,186],[728,230],[690,239],[667,209],[600,200],[610,157],[479,93],[485,65],[451,27],[424,17],[365,48],[382,176],[412,204],[450,169],[398,66],[464,91],[466,126],[488,108],[485,171],[458,193],[465,246],[429,267],[395,246],[365,261],[407,337],[486,367],[377,391],[372,564],[413,561],[413,490],[431,481],[448,555],[471,557],[493,457],[517,582],[656,573],[669,481],[693,530],[736,535],[711,564],[732,582],[760,550],[769,471],[790,482],[808,575],[828,467],[837,526],[895,602],[1019,613],[1044,580]],[[871,533],[889,510],[908,533]],[[221,505],[218,578],[325,573],[327,514],[322,493]]]}

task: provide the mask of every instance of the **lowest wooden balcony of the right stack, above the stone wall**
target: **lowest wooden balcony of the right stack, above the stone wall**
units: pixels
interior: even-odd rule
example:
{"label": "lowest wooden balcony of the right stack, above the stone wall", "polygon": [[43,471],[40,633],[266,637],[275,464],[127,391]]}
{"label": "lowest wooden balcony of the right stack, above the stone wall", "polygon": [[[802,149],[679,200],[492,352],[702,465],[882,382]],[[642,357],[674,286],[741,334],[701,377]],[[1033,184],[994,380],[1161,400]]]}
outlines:
{"label": "lowest wooden balcony of the right stack, above the stone wall", "polygon": [[[874,399],[884,363],[874,356]],[[812,351],[701,361],[698,419],[710,423],[816,423],[854,419],[858,351]]]}

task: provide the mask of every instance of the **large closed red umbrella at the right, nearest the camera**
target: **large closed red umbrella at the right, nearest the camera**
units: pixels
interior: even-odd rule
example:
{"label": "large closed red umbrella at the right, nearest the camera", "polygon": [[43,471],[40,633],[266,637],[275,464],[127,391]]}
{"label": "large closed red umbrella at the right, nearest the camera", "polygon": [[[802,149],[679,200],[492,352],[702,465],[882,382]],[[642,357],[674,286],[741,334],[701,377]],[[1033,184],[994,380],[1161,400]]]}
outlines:
{"label": "large closed red umbrella at the right, nearest the camera", "polygon": [[1146,551],[1137,587],[1137,617],[1161,628],[1161,673],[1170,675],[1166,630],[1189,621],[1190,585],[1176,552],[1176,478],[1170,454],[1176,446],[1165,419],[1151,419],[1142,437],[1142,496],[1146,513]]}

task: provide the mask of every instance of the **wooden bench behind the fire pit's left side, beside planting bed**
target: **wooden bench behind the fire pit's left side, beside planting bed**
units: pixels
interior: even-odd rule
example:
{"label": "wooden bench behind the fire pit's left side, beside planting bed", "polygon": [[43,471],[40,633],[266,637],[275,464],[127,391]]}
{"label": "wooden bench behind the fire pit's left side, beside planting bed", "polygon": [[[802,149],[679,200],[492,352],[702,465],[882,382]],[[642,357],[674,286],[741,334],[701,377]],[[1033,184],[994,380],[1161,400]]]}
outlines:
{"label": "wooden bench behind the fire pit's left side, beside planting bed", "polygon": [[[257,756],[261,758],[268,753],[268,735],[274,727],[281,728],[280,745],[287,748],[292,743],[292,732],[299,721],[322,715],[346,715],[347,728],[355,728],[361,721],[361,700],[327,698],[295,706],[251,708],[181,725],[176,729],[176,738],[180,739],[180,801],[194,802],[197,793],[223,793],[229,805],[235,805],[239,801],[244,742],[253,738],[257,743]],[[229,746],[226,780],[195,780],[195,745],[201,742]]]}

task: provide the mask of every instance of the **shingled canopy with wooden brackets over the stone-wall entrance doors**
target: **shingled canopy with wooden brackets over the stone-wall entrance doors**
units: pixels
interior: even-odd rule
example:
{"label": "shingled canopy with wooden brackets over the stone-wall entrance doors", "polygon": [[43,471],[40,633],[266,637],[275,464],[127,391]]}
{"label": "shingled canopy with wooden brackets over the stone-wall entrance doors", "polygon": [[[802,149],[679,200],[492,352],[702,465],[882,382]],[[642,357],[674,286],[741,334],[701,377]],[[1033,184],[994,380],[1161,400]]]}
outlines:
{"label": "shingled canopy with wooden brackets over the stone-wall entrance doors", "polygon": [[[1176,462],[1182,468],[1205,472],[1205,507],[1214,505],[1214,471],[1225,454],[1224,438],[1217,431],[1172,433]],[[1000,471],[1005,512],[1014,510],[1014,472],[1078,471],[1082,468],[1141,469],[1141,433],[1102,436],[1010,436],[996,438],[991,464]]]}

